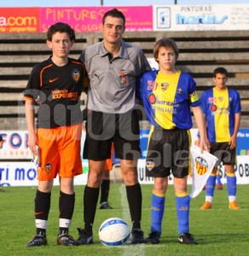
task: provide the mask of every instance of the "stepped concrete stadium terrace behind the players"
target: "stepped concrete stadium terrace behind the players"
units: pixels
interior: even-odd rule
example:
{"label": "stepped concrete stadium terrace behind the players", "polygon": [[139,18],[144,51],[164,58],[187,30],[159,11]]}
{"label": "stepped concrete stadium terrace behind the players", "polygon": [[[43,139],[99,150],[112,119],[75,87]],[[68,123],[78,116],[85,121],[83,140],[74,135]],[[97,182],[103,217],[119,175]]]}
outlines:
{"label": "stepped concrete stadium terrace behind the players", "polygon": [[[153,44],[165,36],[177,41],[177,67],[192,74],[199,95],[213,85],[214,68],[228,69],[228,85],[241,96],[241,127],[249,127],[249,31],[125,32],[124,39],[153,59]],[[26,130],[22,91],[32,67],[50,55],[45,37],[44,33],[0,33],[0,131]],[[78,58],[82,49],[100,40],[101,33],[77,33],[71,56]],[[82,108],[85,100],[83,94]]]}

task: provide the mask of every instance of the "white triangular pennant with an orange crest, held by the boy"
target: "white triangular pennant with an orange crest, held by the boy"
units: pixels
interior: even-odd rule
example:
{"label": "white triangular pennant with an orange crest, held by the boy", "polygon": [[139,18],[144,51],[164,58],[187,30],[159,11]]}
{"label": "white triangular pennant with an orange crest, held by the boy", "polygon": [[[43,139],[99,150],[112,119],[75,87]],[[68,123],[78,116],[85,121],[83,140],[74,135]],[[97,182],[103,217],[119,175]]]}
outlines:
{"label": "white triangular pennant with an orange crest, held by the boy", "polygon": [[200,194],[205,186],[206,180],[217,162],[217,157],[207,151],[203,151],[201,154],[200,148],[194,145],[191,145],[190,153],[192,167],[192,191],[190,197],[194,198]]}

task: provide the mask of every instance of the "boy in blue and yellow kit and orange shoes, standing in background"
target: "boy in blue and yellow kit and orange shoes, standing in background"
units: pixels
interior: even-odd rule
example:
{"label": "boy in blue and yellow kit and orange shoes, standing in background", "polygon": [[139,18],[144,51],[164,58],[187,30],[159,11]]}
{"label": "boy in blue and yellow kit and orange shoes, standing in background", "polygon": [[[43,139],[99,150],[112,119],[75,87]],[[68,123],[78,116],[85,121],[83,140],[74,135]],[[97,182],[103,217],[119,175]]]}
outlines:
{"label": "boy in blue and yellow kit and orange shoes, standing in background", "polygon": [[200,209],[211,209],[216,184],[217,166],[223,162],[227,177],[229,209],[240,209],[236,201],[236,142],[240,127],[240,95],[226,87],[228,72],[217,67],[213,72],[215,86],[200,97],[201,108],[206,118],[210,153],[217,156],[217,164],[206,182],[206,202]]}

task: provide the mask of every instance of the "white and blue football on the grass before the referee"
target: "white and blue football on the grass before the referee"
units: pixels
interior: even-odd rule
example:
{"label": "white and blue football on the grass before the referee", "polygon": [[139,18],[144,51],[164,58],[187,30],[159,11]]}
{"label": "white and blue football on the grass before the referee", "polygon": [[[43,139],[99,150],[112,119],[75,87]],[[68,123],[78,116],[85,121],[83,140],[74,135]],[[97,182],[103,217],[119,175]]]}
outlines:
{"label": "white and blue football on the grass before the referee", "polygon": [[130,238],[130,228],[122,218],[107,218],[101,224],[99,237],[105,246],[120,246]]}

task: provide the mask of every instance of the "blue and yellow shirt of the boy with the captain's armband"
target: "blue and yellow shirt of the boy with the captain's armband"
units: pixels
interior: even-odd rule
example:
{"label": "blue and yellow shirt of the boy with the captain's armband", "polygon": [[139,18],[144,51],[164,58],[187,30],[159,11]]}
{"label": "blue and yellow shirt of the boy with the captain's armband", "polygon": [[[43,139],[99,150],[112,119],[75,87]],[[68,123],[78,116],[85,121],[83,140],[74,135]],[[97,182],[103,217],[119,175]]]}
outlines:
{"label": "blue and yellow shirt of the boy with the captain's armband", "polygon": [[191,107],[200,105],[194,79],[188,73],[143,73],[138,87],[148,121],[164,129],[190,129]]}

